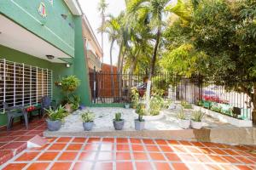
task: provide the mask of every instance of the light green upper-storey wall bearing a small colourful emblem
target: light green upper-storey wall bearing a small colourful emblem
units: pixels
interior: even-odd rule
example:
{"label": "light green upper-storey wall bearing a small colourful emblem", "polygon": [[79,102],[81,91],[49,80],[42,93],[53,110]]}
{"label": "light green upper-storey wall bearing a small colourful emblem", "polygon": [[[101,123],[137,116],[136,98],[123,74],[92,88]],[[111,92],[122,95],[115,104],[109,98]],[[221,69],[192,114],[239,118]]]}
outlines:
{"label": "light green upper-storey wall bearing a small colourful emblem", "polygon": [[[45,18],[38,13],[41,2],[46,7]],[[74,56],[74,28],[69,26],[74,26],[74,17],[63,0],[55,0],[53,5],[48,0],[1,0],[0,14]],[[67,19],[63,19],[61,14],[66,14]]]}

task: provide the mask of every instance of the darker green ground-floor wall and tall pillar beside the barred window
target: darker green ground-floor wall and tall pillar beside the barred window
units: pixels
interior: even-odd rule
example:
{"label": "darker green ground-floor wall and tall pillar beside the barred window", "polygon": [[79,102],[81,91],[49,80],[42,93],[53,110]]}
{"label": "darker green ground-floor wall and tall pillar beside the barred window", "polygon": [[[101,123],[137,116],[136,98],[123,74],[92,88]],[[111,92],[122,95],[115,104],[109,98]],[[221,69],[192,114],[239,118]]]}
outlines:
{"label": "darker green ground-floor wall and tall pillar beside the barred window", "polygon": [[[10,61],[15,61],[19,63],[24,63],[26,65],[34,65],[41,68],[48,68],[53,71],[53,99],[57,103],[61,102],[63,99],[63,93],[61,88],[56,87],[54,82],[60,80],[62,77],[69,75],[75,75],[81,80],[81,85],[79,86],[76,94],[81,97],[82,105],[90,105],[90,85],[89,85],[89,76],[88,68],[86,65],[86,59],[84,54],[84,39],[82,36],[82,19],[80,16],[74,17],[75,24],[75,54],[73,58],[73,65],[70,68],[67,68],[65,64],[51,63],[44,59],[39,59],[35,56],[22,53],[12,48],[7,48],[0,45],[0,59],[8,59]],[[6,124],[6,116],[0,115],[0,127]]]}

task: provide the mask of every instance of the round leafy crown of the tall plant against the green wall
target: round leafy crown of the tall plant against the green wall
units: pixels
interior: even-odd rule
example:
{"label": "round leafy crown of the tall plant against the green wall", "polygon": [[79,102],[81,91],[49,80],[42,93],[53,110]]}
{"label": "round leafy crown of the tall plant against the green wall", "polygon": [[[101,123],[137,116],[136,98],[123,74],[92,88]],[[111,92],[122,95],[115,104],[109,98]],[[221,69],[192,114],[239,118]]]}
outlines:
{"label": "round leafy crown of the tall plant against the green wall", "polygon": [[67,94],[73,93],[80,85],[80,80],[75,76],[63,77],[61,88]]}

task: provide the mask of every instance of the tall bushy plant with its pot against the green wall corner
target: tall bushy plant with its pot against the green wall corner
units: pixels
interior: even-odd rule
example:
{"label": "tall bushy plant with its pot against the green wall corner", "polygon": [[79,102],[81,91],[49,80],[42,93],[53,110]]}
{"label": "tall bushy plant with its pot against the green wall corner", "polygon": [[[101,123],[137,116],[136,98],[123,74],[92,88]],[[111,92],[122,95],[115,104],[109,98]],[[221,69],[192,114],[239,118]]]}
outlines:
{"label": "tall bushy plant with its pot against the green wall corner", "polygon": [[80,80],[75,76],[63,77],[61,80],[62,91],[67,95],[67,104],[65,105],[65,108],[69,113],[73,111],[70,94],[72,94],[79,85]]}

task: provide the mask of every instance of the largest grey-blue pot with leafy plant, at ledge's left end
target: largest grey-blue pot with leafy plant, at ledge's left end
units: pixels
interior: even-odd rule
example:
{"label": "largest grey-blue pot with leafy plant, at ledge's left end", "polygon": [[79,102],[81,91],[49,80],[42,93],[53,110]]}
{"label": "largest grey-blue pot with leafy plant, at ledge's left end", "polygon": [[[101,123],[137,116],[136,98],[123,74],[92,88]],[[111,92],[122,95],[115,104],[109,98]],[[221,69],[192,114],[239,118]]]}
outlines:
{"label": "largest grey-blue pot with leafy plant, at ledge's left end", "polygon": [[46,119],[47,127],[49,131],[57,131],[61,128],[61,124],[64,117],[67,116],[67,111],[63,106],[59,106],[56,110],[44,109],[47,113],[48,118]]}

